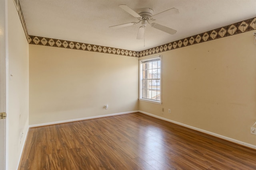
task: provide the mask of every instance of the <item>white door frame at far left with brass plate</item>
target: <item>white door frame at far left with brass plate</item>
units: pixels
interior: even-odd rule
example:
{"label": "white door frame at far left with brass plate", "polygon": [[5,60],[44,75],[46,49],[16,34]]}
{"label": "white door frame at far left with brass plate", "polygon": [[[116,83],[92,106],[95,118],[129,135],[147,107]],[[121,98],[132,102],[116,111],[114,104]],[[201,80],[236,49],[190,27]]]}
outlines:
{"label": "white door frame at far left with brass plate", "polygon": [[[0,112],[7,113],[7,68],[8,68],[8,51],[7,51],[7,1],[0,0]],[[7,169],[7,149],[6,149],[6,131],[7,119],[0,119],[0,169]]]}

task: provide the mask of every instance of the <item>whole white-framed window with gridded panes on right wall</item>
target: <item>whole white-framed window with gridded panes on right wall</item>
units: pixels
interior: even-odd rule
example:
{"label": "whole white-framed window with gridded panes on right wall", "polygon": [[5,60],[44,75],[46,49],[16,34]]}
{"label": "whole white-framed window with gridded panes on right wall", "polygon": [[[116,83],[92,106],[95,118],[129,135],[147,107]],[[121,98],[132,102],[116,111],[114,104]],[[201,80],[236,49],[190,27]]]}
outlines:
{"label": "whole white-framed window with gridded panes on right wall", "polygon": [[140,100],[161,104],[161,56],[140,60]]}

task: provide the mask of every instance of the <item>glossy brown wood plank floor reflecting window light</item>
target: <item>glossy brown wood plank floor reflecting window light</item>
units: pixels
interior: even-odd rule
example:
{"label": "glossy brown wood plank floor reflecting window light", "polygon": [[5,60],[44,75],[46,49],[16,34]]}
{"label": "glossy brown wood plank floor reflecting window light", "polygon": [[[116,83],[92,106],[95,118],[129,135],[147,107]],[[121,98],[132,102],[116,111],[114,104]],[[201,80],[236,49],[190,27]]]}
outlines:
{"label": "glossy brown wood plank floor reflecting window light", "polygon": [[30,128],[20,170],[255,170],[256,150],[132,113]]}

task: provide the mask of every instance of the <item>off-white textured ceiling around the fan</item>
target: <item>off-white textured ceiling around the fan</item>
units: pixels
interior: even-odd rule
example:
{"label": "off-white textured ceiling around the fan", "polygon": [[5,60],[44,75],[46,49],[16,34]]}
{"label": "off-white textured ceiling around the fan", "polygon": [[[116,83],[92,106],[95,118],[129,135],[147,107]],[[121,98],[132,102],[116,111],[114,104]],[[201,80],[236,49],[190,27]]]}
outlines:
{"label": "off-white textured ceiling around the fan", "polygon": [[[138,20],[118,7],[134,11],[152,8],[154,14],[177,8],[179,14],[155,18],[176,29],[170,35],[146,26],[144,40],[136,39],[141,24],[113,29]],[[29,35],[142,51],[185,37],[256,17],[256,0],[20,0]]]}

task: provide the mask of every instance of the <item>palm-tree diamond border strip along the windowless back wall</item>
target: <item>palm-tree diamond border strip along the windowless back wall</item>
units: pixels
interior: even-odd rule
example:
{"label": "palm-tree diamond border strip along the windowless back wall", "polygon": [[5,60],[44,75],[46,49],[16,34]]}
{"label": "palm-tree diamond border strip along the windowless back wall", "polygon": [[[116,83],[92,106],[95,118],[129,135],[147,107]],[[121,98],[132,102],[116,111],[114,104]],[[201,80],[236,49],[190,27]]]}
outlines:
{"label": "palm-tree diamond border strip along the windowless back wall", "polygon": [[83,50],[83,51],[93,51],[93,52],[99,52],[99,53],[124,55],[124,56],[130,56],[130,57],[139,57],[140,55],[140,53],[137,51],[116,49],[112,47],[79,43],[75,41],[66,41],[66,40],[60,40],[60,39],[38,37],[33,35],[29,35],[28,43],[35,44],[35,45],[51,46],[51,47],[61,47],[66,49],[76,49],[76,50]]}

